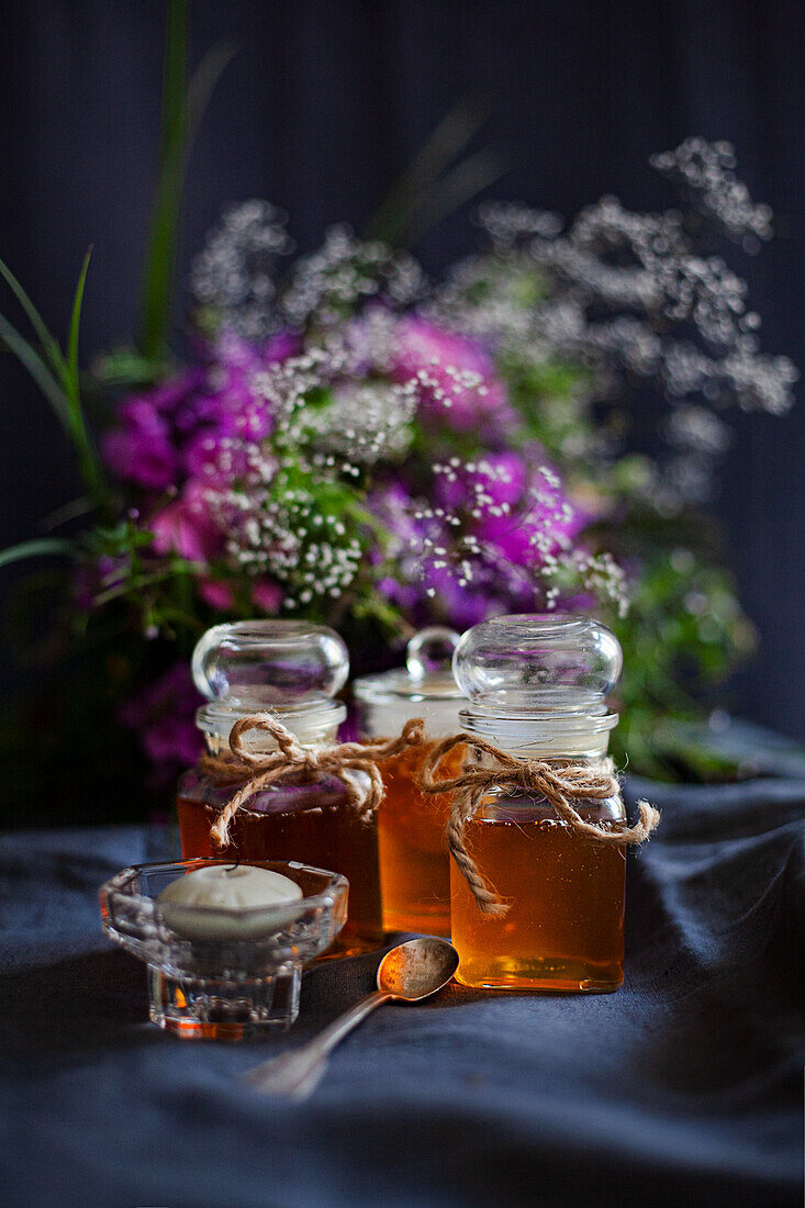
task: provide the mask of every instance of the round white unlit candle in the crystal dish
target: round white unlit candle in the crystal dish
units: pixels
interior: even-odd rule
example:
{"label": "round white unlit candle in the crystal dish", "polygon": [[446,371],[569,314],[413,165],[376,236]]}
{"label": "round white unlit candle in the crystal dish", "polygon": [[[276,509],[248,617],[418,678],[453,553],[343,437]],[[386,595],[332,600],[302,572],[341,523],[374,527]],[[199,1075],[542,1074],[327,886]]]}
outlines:
{"label": "round white unlit candle in the crystal dish", "polygon": [[[279,931],[294,912],[278,906],[301,901],[290,877],[250,864],[193,869],[162,890],[157,901],[168,927],[190,940],[259,940]],[[262,911],[263,913],[255,913]]]}

